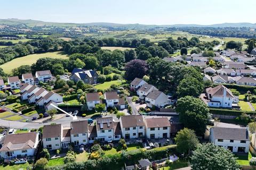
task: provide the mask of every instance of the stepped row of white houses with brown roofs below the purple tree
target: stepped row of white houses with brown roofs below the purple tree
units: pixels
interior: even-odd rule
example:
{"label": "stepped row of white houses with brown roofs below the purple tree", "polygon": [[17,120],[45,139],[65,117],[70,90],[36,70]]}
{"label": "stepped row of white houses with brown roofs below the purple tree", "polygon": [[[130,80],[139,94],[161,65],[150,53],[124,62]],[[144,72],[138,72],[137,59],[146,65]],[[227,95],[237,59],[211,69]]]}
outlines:
{"label": "stepped row of white houses with brown roofs below the purple tree", "polygon": [[142,79],[135,78],[130,88],[137,92],[140,99],[145,100],[147,107],[163,107],[170,103],[167,95]]}

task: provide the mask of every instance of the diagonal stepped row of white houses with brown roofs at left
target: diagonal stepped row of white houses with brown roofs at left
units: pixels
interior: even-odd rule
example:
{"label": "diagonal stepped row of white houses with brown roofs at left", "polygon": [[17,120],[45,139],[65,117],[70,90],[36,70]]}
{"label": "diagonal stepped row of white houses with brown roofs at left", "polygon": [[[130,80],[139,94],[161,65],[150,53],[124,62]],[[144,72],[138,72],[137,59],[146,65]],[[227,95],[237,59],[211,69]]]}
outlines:
{"label": "diagonal stepped row of white houses with brown roofs at left", "polygon": [[20,88],[21,100],[28,100],[28,103],[35,103],[46,110],[53,108],[53,105],[58,106],[63,103],[63,98],[53,91],[45,90],[28,83],[23,84]]}

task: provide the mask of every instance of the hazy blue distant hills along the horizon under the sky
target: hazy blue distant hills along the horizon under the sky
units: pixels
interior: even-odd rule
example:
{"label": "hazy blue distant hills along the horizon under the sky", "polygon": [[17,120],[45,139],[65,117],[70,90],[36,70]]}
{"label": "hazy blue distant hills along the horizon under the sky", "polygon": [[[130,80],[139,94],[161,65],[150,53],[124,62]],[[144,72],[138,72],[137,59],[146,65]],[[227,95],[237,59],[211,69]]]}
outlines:
{"label": "hazy blue distant hills along the horizon under the sky", "polygon": [[220,23],[211,25],[200,25],[200,24],[172,24],[172,25],[146,25],[146,24],[120,24],[120,23],[109,23],[109,22],[92,22],[92,23],[60,23],[60,22],[44,22],[38,20],[20,20],[20,19],[0,19],[0,24],[7,25],[19,25],[26,24],[29,27],[42,26],[42,25],[91,25],[101,27],[250,27],[256,28],[256,23]]}

